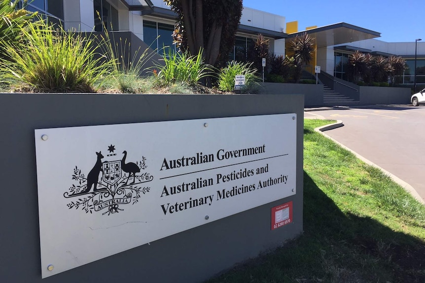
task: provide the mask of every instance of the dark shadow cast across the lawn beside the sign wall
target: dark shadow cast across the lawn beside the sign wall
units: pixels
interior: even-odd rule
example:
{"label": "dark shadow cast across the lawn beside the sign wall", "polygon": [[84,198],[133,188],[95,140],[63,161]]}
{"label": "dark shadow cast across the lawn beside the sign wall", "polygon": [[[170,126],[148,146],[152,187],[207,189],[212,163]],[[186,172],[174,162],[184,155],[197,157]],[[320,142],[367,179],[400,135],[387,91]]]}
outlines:
{"label": "dark shadow cast across the lawn beside the sign wall", "polygon": [[424,283],[425,242],[343,213],[304,172],[303,235],[208,282]]}

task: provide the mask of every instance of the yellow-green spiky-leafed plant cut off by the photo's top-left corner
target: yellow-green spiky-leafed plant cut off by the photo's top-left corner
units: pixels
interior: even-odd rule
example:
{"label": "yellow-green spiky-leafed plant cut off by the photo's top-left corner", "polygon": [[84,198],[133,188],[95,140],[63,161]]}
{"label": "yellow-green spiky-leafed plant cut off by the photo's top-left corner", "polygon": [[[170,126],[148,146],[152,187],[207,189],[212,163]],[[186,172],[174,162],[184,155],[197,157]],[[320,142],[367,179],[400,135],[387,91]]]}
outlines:
{"label": "yellow-green spiky-leafed plant cut off by the photo's top-left corner", "polygon": [[[17,47],[22,39],[21,29],[33,20],[37,13],[18,8],[19,0],[0,0],[0,58],[10,60],[2,43]],[[23,1],[25,7],[27,0]]]}

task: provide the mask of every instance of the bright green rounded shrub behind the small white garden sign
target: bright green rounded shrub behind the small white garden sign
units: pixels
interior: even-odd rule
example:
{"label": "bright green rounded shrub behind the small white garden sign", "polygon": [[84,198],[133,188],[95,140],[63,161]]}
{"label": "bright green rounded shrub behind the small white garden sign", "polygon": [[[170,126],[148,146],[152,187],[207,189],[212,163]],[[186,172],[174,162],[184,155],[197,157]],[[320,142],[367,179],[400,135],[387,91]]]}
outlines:
{"label": "bright green rounded shrub behind the small white garden sign", "polygon": [[227,67],[221,69],[218,75],[218,88],[224,92],[231,92],[235,88],[235,76],[245,75],[245,89],[241,92],[252,93],[259,87],[260,78],[255,73],[256,70],[252,68],[252,63],[244,64],[232,61]]}

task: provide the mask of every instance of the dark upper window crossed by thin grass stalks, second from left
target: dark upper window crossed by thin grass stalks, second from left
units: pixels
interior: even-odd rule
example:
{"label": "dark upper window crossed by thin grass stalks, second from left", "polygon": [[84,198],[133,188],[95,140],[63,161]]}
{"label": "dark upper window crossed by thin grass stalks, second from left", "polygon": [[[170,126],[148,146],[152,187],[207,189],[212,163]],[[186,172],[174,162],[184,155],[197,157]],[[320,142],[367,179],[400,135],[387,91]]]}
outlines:
{"label": "dark upper window crossed by thin grass stalks, second from left", "polygon": [[[95,31],[118,31],[118,10],[106,0],[94,0]],[[98,14],[99,13],[99,14]]]}

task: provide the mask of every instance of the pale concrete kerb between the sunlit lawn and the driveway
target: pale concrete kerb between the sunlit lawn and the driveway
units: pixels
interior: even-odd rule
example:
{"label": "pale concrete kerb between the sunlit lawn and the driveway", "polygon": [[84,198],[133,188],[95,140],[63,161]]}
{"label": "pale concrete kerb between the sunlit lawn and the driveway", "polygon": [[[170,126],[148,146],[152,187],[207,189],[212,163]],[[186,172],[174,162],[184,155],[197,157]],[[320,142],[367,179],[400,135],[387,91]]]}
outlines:
{"label": "pale concrete kerb between the sunlit lawn and the driveway", "polygon": [[351,153],[353,153],[355,155],[355,157],[357,157],[358,159],[360,159],[361,161],[363,161],[364,163],[374,166],[378,169],[380,169],[382,172],[384,172],[384,174],[386,174],[387,176],[389,176],[392,181],[394,181],[395,183],[397,183],[398,185],[400,185],[401,187],[403,187],[405,190],[407,190],[414,198],[416,198],[420,203],[425,204],[425,201],[422,199],[422,197],[419,195],[419,193],[409,184],[407,184],[406,182],[404,182],[403,180],[401,180],[400,178],[398,178],[397,176],[391,174],[390,172],[388,172],[387,170],[379,167],[378,165],[376,165],[375,163],[373,163],[372,161],[362,157],[361,155],[359,155],[358,153],[356,153],[355,151],[351,150],[350,148],[346,147],[345,145],[341,144],[340,142],[336,141],[335,139],[331,138],[330,136],[328,136],[327,134],[325,134],[323,131],[327,131],[327,130],[331,130],[331,129],[335,129],[338,127],[344,126],[344,124],[342,123],[341,120],[337,120],[336,123],[332,123],[329,125],[325,125],[325,126],[320,126],[315,128],[315,131],[322,134],[323,136],[327,137],[328,139],[334,141],[336,144],[338,144],[339,146],[341,146],[342,148],[350,151]]}

